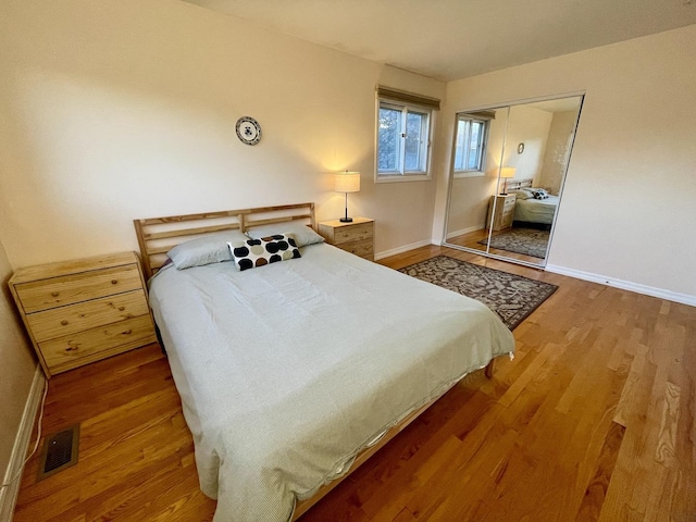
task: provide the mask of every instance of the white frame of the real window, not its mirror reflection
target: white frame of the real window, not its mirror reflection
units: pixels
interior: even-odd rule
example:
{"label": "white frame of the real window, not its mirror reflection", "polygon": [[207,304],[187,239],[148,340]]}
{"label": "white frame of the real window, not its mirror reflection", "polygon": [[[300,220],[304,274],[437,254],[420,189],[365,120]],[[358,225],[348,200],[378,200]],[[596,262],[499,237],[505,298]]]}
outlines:
{"label": "white frame of the real window, not its mirror reflection", "polygon": [[[380,112],[382,108],[400,110],[401,112],[401,136],[399,147],[399,158],[397,170],[381,171],[380,170]],[[394,182],[425,182],[433,178],[431,172],[432,149],[433,149],[433,128],[435,120],[435,109],[421,105],[418,103],[409,103],[403,100],[381,96],[376,97],[376,116],[375,116],[375,161],[374,161],[374,181],[375,183],[394,183]],[[419,156],[424,156],[419,161],[418,170],[406,169],[406,140],[408,114],[421,114],[425,116],[425,121],[421,123],[421,146],[419,147]]]}

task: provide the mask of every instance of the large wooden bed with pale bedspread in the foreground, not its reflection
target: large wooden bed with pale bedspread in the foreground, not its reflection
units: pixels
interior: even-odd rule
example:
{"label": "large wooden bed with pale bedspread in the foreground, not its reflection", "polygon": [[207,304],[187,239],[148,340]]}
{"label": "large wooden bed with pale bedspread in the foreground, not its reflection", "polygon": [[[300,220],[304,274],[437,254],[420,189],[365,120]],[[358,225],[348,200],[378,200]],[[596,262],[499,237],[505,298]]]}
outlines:
{"label": "large wooden bed with pale bedspread in the foreground, not its reflection", "polygon": [[[312,203],[135,221],[215,521],[299,518],[464,375],[514,350],[485,306],[321,243],[314,225]],[[239,271],[236,257],[178,269],[166,256],[201,234],[273,228],[298,238],[300,257]]]}

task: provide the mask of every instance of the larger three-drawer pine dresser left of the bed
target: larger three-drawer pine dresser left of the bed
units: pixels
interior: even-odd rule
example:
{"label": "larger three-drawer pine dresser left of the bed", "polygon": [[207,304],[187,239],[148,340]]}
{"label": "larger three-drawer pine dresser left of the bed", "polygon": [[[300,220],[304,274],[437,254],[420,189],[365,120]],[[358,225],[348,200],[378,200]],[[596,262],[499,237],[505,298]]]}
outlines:
{"label": "larger three-drawer pine dresser left of the bed", "polygon": [[49,378],[157,340],[135,252],[28,266],[9,284]]}

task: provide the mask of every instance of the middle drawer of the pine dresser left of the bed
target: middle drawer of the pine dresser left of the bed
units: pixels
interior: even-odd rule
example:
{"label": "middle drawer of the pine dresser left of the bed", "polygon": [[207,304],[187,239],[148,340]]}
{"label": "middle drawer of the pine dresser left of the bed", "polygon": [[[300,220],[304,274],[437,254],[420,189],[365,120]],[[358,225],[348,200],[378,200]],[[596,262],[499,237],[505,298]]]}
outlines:
{"label": "middle drawer of the pine dresser left of the bed", "polygon": [[28,314],[26,320],[37,343],[96,328],[149,313],[144,290]]}

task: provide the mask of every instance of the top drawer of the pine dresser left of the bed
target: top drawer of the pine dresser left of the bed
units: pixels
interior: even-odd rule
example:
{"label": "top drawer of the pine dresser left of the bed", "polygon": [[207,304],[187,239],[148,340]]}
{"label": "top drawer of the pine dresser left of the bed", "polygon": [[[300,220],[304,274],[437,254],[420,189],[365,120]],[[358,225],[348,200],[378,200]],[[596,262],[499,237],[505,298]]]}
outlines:
{"label": "top drawer of the pine dresser left of the bed", "polygon": [[138,288],[142,288],[142,284],[138,266],[135,264],[51,277],[15,286],[24,313],[63,307]]}

